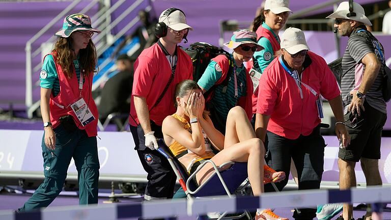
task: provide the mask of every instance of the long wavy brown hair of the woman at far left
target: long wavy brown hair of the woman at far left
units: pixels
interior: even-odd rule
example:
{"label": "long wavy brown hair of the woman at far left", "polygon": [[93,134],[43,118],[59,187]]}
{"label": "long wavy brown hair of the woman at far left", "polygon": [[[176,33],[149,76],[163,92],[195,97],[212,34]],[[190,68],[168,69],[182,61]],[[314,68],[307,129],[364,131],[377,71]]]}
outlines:
{"label": "long wavy brown hair of the woman at far left", "polygon": [[[73,60],[76,59],[73,52],[73,39],[71,36],[68,38],[59,37],[52,50],[52,52],[57,53],[57,63],[60,64],[64,74],[68,78],[72,78],[73,76]],[[85,49],[79,50],[78,57],[81,68],[85,70],[84,74],[89,75],[93,73],[97,66],[97,54],[95,45],[91,39]]]}

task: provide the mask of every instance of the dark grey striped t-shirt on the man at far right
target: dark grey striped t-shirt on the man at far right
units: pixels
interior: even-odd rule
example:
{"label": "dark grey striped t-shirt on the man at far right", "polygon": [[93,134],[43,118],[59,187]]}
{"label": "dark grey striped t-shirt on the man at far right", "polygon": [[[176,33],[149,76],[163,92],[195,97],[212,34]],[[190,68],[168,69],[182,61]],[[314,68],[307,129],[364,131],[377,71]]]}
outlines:
{"label": "dark grey striped t-shirt on the man at far right", "polygon": [[[345,113],[347,113],[348,105],[351,102],[350,91],[358,88],[359,85],[356,86],[356,80],[359,81],[359,75],[365,71],[365,65],[361,63],[361,60],[371,52],[375,53],[381,65],[384,65],[384,49],[380,42],[365,28],[359,27],[353,30],[342,57],[341,89]],[[357,74],[355,74],[356,71]],[[381,92],[383,74],[383,66],[381,66],[379,74],[366,94],[365,100],[373,108],[386,114],[386,104]]]}

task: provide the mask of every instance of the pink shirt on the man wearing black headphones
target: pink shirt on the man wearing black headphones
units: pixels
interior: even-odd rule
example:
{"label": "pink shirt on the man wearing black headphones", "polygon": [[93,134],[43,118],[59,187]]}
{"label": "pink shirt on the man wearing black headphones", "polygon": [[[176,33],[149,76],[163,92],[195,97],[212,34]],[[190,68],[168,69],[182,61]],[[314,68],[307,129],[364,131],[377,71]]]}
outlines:
{"label": "pink shirt on the man wearing black headphones", "polygon": [[[129,124],[137,126],[139,124],[134,108],[133,96],[146,98],[150,120],[157,125],[162,124],[166,116],[175,113],[174,93],[178,82],[184,79],[192,79],[193,65],[190,57],[185,51],[177,47],[178,62],[175,69],[174,80],[163,98],[152,110],[160,94],[163,92],[171,76],[171,65],[166,58],[166,54],[158,43],[143,50],[134,63],[134,80],[132,98],[130,101]],[[134,119],[134,120],[133,120]]]}

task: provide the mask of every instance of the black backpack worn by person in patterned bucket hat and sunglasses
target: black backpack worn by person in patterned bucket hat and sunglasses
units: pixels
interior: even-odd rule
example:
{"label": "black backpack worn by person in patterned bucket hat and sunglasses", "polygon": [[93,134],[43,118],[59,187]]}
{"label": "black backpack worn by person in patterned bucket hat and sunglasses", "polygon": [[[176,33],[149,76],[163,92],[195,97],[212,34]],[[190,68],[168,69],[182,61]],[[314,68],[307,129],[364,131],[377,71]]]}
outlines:
{"label": "black backpack worn by person in patterned bucket hat and sunglasses", "polygon": [[201,78],[211,59],[217,57],[219,54],[224,54],[228,58],[230,58],[229,52],[225,51],[220,47],[216,47],[204,42],[192,43],[188,48],[185,48],[184,50],[190,56],[191,62],[193,63],[194,81],[198,81]]}

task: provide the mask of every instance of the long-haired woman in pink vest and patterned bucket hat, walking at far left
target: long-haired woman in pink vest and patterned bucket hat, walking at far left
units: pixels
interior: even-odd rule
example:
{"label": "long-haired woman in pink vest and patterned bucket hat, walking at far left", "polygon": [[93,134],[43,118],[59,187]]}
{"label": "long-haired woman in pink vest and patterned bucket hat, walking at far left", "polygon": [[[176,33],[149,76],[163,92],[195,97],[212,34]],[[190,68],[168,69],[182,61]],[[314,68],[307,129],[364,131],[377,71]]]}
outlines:
{"label": "long-haired woman in pink vest and patterned bucket hat, walking at far left", "polygon": [[79,204],[98,203],[98,111],[91,94],[96,49],[90,17],[64,19],[54,49],[45,56],[40,73],[44,135],[44,182],[18,211],[48,206],[61,192],[71,159],[79,181]]}

